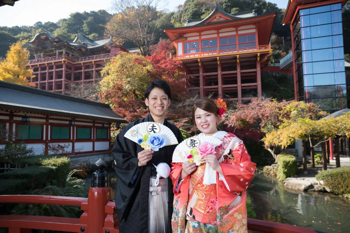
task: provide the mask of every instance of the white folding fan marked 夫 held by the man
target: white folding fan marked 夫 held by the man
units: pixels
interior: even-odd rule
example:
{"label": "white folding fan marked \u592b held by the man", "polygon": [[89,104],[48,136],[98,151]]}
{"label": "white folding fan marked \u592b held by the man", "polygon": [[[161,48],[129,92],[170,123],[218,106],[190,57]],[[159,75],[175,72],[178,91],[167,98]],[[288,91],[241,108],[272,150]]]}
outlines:
{"label": "white folding fan marked \u592b held by the man", "polygon": [[[125,133],[124,137],[140,144],[142,148],[151,149],[152,146],[149,144],[148,138],[152,134],[154,134],[153,136],[157,135],[158,138],[160,137],[160,139],[164,140],[162,143],[163,145],[158,148],[179,144],[173,131],[167,126],[156,122],[142,122],[134,125]],[[154,151],[158,151],[158,148],[152,147],[152,150],[155,149]]]}

